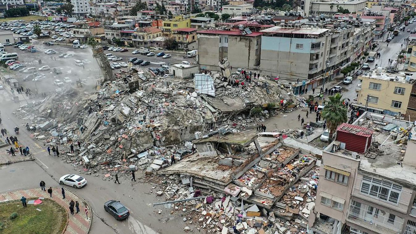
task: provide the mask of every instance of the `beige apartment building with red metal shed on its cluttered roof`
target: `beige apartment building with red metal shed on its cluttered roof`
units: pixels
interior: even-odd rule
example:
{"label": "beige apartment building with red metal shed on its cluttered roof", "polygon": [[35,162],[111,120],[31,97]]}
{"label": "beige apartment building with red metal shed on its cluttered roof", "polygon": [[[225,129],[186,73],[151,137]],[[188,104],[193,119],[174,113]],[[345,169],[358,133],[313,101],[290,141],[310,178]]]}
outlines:
{"label": "beige apartment building with red metal shed on its cluttered roof", "polygon": [[311,230],[322,233],[327,224],[332,234],[414,234],[415,134],[413,122],[370,112],[341,124],[322,151]]}

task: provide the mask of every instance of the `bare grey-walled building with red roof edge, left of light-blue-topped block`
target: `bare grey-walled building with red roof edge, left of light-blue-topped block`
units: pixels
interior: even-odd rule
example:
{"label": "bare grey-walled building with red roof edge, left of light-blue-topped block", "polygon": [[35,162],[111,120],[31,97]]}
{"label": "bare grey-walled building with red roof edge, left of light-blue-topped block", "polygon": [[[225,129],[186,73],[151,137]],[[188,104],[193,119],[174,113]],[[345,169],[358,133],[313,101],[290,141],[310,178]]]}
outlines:
{"label": "bare grey-walled building with red roof edge, left of light-blue-topped block", "polygon": [[224,58],[235,68],[255,69],[260,64],[262,32],[201,30],[197,35],[201,69],[219,71],[218,62]]}

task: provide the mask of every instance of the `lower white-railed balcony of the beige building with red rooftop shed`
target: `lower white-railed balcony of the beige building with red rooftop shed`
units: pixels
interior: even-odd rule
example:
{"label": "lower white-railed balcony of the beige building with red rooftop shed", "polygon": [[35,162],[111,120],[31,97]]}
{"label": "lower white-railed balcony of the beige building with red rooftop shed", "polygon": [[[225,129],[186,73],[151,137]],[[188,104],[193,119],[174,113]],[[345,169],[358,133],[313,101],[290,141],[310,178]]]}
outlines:
{"label": "lower white-railed balcony of the beige building with red rooftop shed", "polygon": [[404,219],[367,204],[351,201],[346,220],[379,234],[400,234]]}

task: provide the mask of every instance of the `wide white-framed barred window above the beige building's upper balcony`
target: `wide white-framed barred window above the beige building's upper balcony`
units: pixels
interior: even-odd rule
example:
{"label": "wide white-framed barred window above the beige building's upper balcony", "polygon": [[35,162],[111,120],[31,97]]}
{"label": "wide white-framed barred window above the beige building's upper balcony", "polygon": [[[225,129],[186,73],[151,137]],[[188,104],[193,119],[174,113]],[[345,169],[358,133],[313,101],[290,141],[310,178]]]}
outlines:
{"label": "wide white-framed barred window above the beige building's upper balcony", "polygon": [[386,180],[382,181],[377,178],[364,175],[360,192],[397,204],[401,189],[401,185],[396,185]]}

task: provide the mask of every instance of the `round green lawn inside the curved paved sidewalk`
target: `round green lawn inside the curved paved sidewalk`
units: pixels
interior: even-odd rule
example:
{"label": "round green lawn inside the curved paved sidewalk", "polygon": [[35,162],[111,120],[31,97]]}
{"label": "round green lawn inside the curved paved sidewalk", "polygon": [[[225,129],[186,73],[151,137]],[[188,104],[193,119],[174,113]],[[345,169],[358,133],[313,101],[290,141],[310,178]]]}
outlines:
{"label": "round green lawn inside the curved paved sidewalk", "polygon": [[[37,198],[27,201],[34,199]],[[14,212],[17,213],[17,217],[10,219]],[[50,199],[44,199],[43,203],[37,206],[27,204],[27,208],[23,207],[22,202],[0,204],[0,223],[3,224],[0,233],[60,234],[65,228],[67,218],[64,207]]]}

